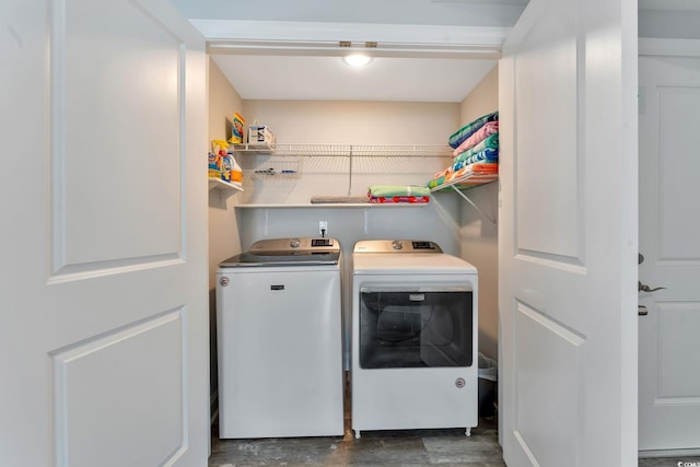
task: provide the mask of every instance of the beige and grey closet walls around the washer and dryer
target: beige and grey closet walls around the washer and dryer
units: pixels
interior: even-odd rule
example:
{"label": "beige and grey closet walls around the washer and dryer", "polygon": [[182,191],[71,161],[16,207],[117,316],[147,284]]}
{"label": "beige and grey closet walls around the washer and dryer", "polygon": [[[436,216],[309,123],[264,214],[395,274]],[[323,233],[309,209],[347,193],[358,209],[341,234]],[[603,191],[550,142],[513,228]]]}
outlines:
{"label": "beige and grey closet walls around the washer and dryer", "polygon": [[[357,70],[348,70],[350,72]],[[360,70],[361,72],[361,70]],[[397,77],[399,80],[400,77]],[[439,85],[436,79],[435,85]],[[230,136],[234,113],[246,122],[258,120],[273,129],[278,144],[443,145],[465,124],[498,109],[498,66],[485,71],[462,102],[352,102],[243,100],[217,65],[209,61],[209,136]],[[438,243],[445,253],[465,258],[479,271],[479,350],[498,358],[498,183],[468,190],[479,212],[454,191],[433,192],[427,205],[324,206],[314,196],[366,196],[370,185],[425,185],[451,159],[421,154],[390,156],[235,154],[243,167],[244,191],[211,190],[209,197],[209,264],[211,323],[218,264],[245,252],[260,238],[318,235],[342,245],[345,367],[349,364],[349,259],[355,242],[410,238]],[[278,173],[293,165],[292,176]],[[350,165],[351,164],[351,165]],[[269,166],[269,167],[268,167]],[[260,171],[257,172],[256,171]],[[211,336],[215,336],[212,328]],[[212,388],[215,384],[215,342],[212,339]]]}

